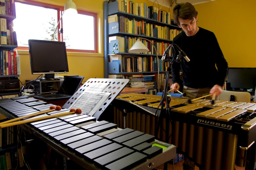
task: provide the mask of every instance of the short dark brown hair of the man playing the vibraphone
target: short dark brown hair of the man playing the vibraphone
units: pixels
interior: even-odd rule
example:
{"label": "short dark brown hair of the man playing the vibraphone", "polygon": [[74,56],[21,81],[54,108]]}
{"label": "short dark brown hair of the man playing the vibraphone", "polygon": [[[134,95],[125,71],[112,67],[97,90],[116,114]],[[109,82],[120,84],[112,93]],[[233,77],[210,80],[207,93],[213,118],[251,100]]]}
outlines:
{"label": "short dark brown hair of the man playing the vibraphone", "polygon": [[182,20],[190,19],[192,20],[194,17],[196,18],[197,11],[195,7],[186,2],[186,3],[179,3],[173,8],[173,17],[174,17],[174,23],[179,25],[178,18]]}

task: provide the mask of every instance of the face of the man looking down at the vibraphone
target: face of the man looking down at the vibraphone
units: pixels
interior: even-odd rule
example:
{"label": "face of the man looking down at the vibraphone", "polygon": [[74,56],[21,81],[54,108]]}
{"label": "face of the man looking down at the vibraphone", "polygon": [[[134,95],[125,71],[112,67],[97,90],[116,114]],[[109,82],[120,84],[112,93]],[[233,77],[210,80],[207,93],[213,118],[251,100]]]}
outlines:
{"label": "face of the man looking down at the vibraphone", "polygon": [[187,19],[187,20],[182,20],[180,18],[178,18],[179,20],[179,27],[182,28],[182,30],[186,33],[187,36],[193,36],[196,34],[196,21],[197,21],[197,17],[192,20]]}

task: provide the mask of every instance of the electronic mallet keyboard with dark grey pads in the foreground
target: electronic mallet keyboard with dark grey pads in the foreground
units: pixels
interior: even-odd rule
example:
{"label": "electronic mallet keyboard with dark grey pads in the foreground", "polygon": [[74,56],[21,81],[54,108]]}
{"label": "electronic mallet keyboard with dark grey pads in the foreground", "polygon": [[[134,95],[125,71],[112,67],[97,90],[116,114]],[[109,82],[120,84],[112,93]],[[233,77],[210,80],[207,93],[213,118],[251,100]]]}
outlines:
{"label": "electronic mallet keyboard with dark grey pads in the foreground", "polygon": [[[50,106],[54,105],[28,97],[0,100],[1,113],[9,118]],[[61,109],[27,119],[67,111]],[[174,145],[155,140],[153,135],[129,128],[117,129],[114,123],[96,121],[83,113],[35,121],[23,127],[86,169],[153,169],[176,156]]]}

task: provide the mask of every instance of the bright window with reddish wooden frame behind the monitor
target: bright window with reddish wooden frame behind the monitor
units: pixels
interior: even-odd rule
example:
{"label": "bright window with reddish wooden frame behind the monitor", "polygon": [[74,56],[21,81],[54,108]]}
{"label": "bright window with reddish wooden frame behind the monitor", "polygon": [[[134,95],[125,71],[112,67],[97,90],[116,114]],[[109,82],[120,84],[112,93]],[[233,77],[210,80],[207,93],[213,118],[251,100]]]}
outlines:
{"label": "bright window with reddish wooden frame behind the monitor", "polygon": [[[15,2],[16,19],[13,21],[18,47],[28,49],[29,39],[51,40],[63,7],[39,2]],[[79,11],[74,16],[65,15],[55,32],[55,41],[66,42],[70,52],[97,52],[96,13]],[[63,28],[63,33],[58,34]],[[24,48],[25,47],[25,48]]]}

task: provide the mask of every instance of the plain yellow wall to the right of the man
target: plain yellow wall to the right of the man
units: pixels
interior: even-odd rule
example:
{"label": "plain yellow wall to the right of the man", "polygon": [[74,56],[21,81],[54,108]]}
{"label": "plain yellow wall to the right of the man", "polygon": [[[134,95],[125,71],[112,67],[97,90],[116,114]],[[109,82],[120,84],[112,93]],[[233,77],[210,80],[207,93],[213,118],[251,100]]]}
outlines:
{"label": "plain yellow wall to the right of the man", "polygon": [[212,31],[229,67],[256,67],[255,0],[216,0],[195,5],[197,26]]}

